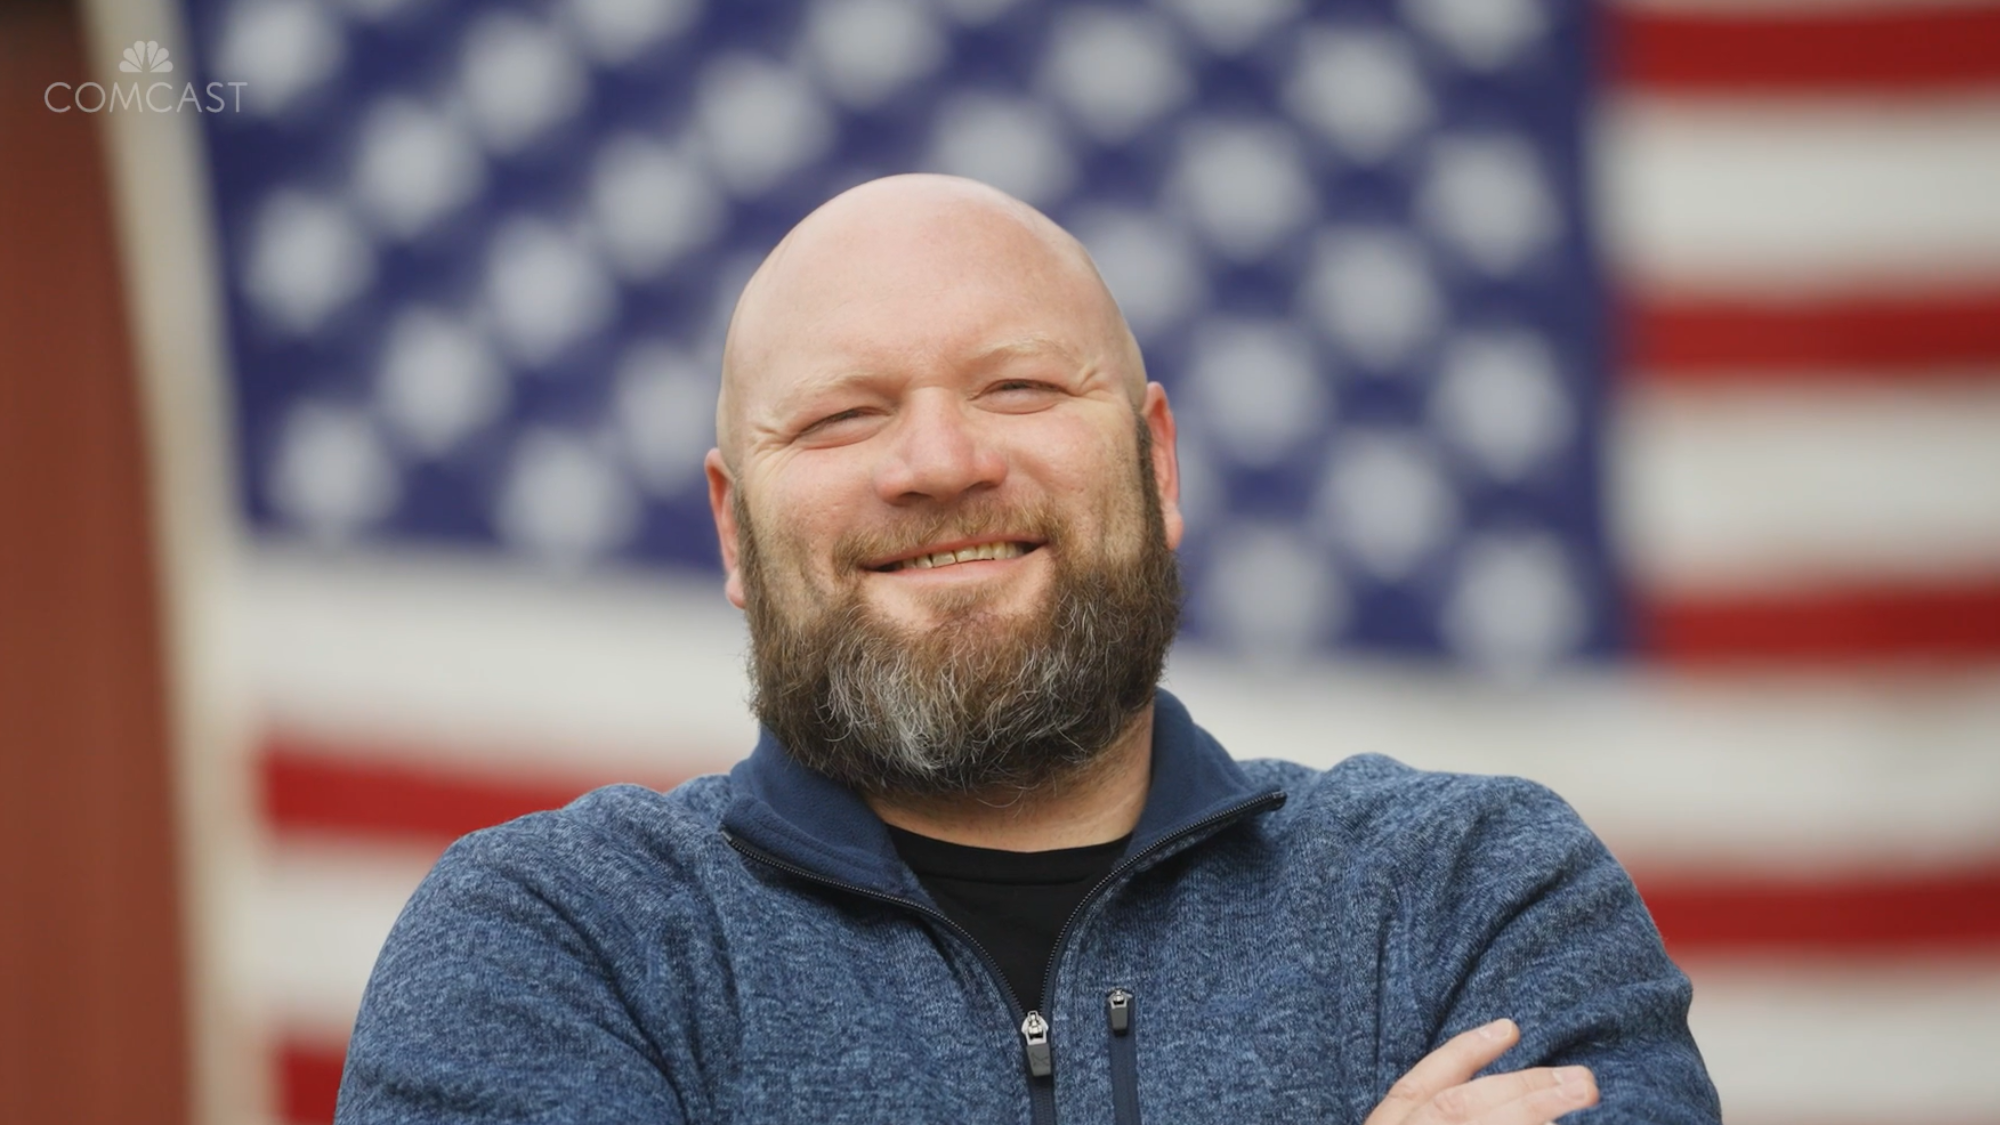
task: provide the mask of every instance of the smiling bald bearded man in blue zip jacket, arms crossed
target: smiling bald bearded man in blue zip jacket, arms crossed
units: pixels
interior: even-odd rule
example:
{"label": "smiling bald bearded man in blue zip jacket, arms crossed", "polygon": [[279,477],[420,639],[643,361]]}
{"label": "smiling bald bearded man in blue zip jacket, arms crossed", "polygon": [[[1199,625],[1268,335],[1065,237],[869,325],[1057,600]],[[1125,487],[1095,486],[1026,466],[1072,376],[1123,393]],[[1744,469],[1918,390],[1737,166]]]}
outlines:
{"label": "smiling bald bearded man in blue zip jacket, arms crossed", "polygon": [[762,741],[454,845],[340,1121],[1718,1121],[1562,801],[1236,763],[1156,691],[1174,414],[1048,218],[828,202],[744,290],[716,438]]}

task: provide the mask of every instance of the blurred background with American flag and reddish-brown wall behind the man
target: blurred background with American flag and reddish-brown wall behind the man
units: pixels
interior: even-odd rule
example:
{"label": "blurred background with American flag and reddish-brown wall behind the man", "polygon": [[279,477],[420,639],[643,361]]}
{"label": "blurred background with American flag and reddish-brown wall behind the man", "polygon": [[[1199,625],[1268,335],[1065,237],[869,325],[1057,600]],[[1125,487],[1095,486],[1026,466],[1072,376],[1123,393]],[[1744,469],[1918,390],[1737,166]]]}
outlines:
{"label": "blurred background with American flag and reddish-brown wall behind the man", "polygon": [[2000,1123],[2000,4],[0,20],[0,1121],[328,1121],[450,839],[748,751],[722,326],[926,168],[1170,388],[1234,753],[1556,787],[1734,1125]]}

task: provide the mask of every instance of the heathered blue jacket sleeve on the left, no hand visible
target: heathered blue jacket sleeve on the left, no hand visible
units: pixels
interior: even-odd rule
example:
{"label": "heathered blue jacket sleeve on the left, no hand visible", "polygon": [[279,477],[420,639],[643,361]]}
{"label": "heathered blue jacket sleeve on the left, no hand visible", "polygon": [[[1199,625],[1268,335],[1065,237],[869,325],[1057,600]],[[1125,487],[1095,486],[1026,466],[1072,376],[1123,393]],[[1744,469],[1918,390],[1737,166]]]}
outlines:
{"label": "heathered blue jacket sleeve on the left, no hand visible", "polygon": [[614,913],[588,857],[560,839],[522,847],[512,829],[452,845],[404,907],[348,1045],[338,1125],[686,1119],[608,969],[618,935],[592,931]]}

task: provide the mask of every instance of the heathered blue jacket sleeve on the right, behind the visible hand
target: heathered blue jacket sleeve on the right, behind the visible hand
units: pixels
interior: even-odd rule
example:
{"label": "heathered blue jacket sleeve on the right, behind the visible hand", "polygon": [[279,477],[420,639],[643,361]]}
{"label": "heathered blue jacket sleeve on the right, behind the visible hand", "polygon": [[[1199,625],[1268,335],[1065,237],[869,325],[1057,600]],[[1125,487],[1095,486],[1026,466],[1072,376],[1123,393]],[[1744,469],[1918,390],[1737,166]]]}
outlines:
{"label": "heathered blue jacket sleeve on the right, behind the visible hand", "polygon": [[[1566,1125],[1716,1125],[1716,1089],[1688,1033],[1688,977],[1632,879],[1582,819],[1520,779],[1454,779],[1442,839],[1414,849],[1410,1003],[1428,1043],[1510,1017],[1520,1043],[1486,1073],[1580,1063],[1596,1107]],[[1426,1019],[1428,1017],[1428,1019]],[[1404,1069],[1408,1069],[1404,1065]],[[1402,1071],[1388,1075],[1384,1089]]]}

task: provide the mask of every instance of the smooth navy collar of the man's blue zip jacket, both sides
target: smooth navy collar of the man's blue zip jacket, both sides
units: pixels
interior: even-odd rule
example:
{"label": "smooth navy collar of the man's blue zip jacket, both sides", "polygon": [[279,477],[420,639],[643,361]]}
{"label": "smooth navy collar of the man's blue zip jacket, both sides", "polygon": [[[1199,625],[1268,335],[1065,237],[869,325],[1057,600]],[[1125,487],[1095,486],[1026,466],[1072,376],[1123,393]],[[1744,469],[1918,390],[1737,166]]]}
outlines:
{"label": "smooth navy collar of the man's blue zip jacket, both sides", "polygon": [[[736,763],[730,783],[736,797],[722,829],[738,841],[820,879],[922,897],[882,819],[852,789],[792,761],[770,731],[762,731],[750,757]],[[1156,691],[1152,787],[1126,855],[1278,795],[1276,787],[1254,787],[1228,751],[1194,725],[1178,699]]]}

